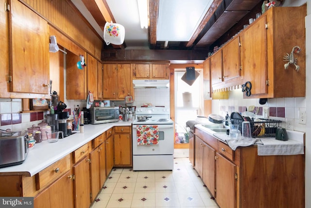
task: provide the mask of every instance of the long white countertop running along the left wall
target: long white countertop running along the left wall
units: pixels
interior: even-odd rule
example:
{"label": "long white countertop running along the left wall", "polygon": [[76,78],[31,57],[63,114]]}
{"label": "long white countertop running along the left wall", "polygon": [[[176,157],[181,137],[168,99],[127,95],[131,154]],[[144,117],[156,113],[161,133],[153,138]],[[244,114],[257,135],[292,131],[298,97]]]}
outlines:
{"label": "long white countertop running along the left wall", "polygon": [[12,175],[14,173],[33,176],[108,129],[114,126],[131,125],[132,122],[124,121],[95,125],[88,124],[84,126],[84,133],[74,133],[64,139],[58,139],[58,142],[55,143],[49,143],[47,140],[44,140],[41,143],[35,144],[22,164],[0,168],[0,175]]}

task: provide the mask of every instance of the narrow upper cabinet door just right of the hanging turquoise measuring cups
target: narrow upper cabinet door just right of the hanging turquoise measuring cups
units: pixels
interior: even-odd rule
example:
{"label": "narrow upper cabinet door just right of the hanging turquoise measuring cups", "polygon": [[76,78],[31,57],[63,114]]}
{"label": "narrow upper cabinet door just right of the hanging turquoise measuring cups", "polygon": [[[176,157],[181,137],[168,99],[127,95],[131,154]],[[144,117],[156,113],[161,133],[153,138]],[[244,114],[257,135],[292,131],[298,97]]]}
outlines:
{"label": "narrow upper cabinet door just right of the hanging turquoise measuring cups", "polygon": [[87,84],[87,93],[91,91],[93,93],[94,99],[98,99],[97,91],[97,60],[91,55],[87,54],[86,57],[86,84]]}

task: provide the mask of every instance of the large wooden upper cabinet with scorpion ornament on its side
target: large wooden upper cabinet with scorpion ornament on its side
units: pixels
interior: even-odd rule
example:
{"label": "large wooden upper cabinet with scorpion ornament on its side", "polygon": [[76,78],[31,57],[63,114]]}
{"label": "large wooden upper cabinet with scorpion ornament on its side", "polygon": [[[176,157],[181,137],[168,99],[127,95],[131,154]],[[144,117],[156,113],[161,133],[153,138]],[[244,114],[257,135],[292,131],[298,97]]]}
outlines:
{"label": "large wooden upper cabinet with scorpion ornament on its side", "polygon": [[[251,98],[305,96],[305,16],[306,5],[272,7],[242,32],[242,70],[244,81],[252,83]],[[294,54],[299,71],[294,64],[284,68],[283,57],[294,46],[301,49]]]}

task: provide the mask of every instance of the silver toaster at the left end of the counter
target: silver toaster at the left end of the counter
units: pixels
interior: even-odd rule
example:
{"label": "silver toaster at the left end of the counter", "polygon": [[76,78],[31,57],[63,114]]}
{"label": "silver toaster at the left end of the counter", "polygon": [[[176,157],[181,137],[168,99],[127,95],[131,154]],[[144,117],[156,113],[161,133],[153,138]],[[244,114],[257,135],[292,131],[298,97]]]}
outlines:
{"label": "silver toaster at the left end of the counter", "polygon": [[0,168],[22,164],[28,154],[28,132],[0,132]]}

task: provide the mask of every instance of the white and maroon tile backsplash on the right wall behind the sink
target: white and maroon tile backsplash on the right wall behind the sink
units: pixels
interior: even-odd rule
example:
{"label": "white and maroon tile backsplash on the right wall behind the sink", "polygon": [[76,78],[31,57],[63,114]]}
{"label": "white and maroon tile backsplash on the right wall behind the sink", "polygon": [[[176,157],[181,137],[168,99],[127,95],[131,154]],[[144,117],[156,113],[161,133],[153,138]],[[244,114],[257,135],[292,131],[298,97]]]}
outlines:
{"label": "white and maroon tile backsplash on the right wall behind the sink", "polygon": [[253,113],[258,109],[258,117],[262,118],[262,110],[264,107],[269,108],[269,119],[280,120],[280,126],[287,128],[286,122],[288,120],[294,121],[294,130],[306,132],[306,125],[299,123],[299,109],[306,111],[305,97],[288,97],[288,98],[269,98],[266,104],[260,105],[258,98],[243,99],[241,89],[232,90],[229,92],[229,99],[212,100],[212,113],[218,113],[223,116],[226,112],[242,113],[248,109],[249,106],[255,106]]}

